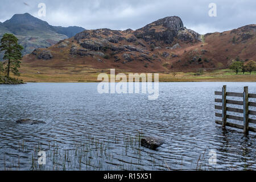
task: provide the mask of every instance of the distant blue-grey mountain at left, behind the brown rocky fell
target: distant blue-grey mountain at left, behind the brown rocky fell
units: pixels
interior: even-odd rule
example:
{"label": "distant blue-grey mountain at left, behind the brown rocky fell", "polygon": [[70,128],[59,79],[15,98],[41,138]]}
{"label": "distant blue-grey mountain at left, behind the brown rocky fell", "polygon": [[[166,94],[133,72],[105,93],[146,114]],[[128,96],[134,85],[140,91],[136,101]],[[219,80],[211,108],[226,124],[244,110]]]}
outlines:
{"label": "distant blue-grey mountain at left, behind the brown rocky fell", "polygon": [[11,19],[0,23],[0,36],[5,33],[14,34],[24,47],[23,55],[31,53],[35,48],[52,46],[83,30],[85,29],[81,27],[51,26],[28,13],[15,14]]}

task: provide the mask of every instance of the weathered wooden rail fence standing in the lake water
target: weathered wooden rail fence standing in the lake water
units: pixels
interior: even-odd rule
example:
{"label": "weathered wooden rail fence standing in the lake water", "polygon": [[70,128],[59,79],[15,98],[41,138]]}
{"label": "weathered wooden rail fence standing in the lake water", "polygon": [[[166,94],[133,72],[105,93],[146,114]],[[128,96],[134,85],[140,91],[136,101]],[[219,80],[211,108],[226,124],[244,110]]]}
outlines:
{"label": "weathered wooden rail fence standing in the lake water", "polygon": [[[215,105],[215,109],[222,110],[222,113],[215,113],[216,117],[222,118],[222,121],[216,121],[217,124],[225,126],[236,127],[238,129],[243,129],[243,133],[249,134],[249,131],[256,132],[255,127],[250,127],[249,123],[256,124],[256,119],[249,118],[249,115],[256,115],[256,111],[249,110],[249,106],[256,107],[256,102],[249,102],[249,98],[256,98],[256,94],[248,93],[248,86],[245,86],[243,93],[226,92],[226,85],[223,86],[222,92],[215,92],[215,95],[222,96],[221,99],[216,98],[215,102],[222,103],[221,106]],[[226,97],[242,97],[243,101],[228,100]],[[243,109],[237,109],[233,107],[227,107],[227,104],[232,105],[242,105]],[[235,115],[226,114],[226,111],[232,111],[235,113],[242,113],[243,117],[238,117]],[[238,125],[236,123],[227,122],[226,119],[234,119],[236,121],[242,121],[243,125]]]}

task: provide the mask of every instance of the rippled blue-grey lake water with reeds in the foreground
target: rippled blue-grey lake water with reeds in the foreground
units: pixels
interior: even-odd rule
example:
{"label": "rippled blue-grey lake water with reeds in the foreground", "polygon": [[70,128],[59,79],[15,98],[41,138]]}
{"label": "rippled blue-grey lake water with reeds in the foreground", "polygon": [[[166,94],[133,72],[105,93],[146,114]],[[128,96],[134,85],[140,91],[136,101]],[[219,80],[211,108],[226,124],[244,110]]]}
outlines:
{"label": "rippled blue-grey lake water with reeds in the foreground", "polygon": [[[256,93],[255,82],[163,82],[150,101],[98,94],[97,83],[0,85],[0,169],[255,170],[255,134],[214,122],[214,91],[224,84],[228,92],[249,86]],[[46,125],[17,125],[22,118]],[[140,146],[141,135],[166,142],[152,151]],[[39,150],[46,151],[41,168]],[[217,164],[209,164],[210,151]]]}

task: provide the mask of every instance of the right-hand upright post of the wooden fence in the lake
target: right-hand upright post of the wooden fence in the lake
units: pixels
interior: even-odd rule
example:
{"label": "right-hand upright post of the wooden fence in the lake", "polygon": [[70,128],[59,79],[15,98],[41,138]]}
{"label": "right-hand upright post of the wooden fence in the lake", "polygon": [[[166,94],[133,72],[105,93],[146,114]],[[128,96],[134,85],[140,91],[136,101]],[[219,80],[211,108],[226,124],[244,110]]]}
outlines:
{"label": "right-hand upright post of the wooden fence in the lake", "polygon": [[248,86],[243,88],[243,133],[249,134],[249,97]]}

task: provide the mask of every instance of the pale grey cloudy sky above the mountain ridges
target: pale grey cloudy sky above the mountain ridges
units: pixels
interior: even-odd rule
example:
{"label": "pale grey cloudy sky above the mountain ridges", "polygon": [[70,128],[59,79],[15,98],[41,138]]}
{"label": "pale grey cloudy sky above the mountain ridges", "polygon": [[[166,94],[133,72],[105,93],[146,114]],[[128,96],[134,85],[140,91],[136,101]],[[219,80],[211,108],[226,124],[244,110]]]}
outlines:
{"label": "pale grey cloudy sky above the mountain ridges", "polygon": [[[53,26],[81,26],[86,29],[136,30],[166,16],[180,16],[184,26],[205,34],[256,24],[255,0],[0,0],[0,22],[14,14],[30,13]],[[39,3],[46,16],[39,17]],[[217,16],[210,17],[215,3]],[[42,11],[41,11],[42,12]]]}

